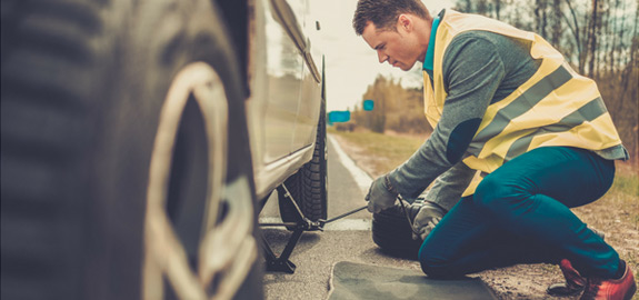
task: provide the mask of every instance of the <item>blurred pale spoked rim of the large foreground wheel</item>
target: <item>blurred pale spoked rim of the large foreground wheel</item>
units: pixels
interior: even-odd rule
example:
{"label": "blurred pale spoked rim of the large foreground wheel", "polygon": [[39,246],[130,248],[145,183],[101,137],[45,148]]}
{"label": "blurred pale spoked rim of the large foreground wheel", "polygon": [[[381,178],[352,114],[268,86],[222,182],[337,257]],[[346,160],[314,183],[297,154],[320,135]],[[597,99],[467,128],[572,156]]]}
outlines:
{"label": "blurred pale spoked rim of the large foreground wheel", "polygon": [[230,299],[257,258],[249,181],[226,177],[227,106],[207,63],[171,83],[151,154],[143,299]]}

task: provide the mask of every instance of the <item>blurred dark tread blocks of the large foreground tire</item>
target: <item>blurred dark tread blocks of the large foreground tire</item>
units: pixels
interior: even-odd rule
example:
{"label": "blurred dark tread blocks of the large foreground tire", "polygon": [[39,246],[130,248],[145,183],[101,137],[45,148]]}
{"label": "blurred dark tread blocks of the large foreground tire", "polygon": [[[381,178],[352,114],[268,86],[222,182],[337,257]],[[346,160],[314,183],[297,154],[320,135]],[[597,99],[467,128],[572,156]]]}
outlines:
{"label": "blurred dark tread blocks of the large foreground tire", "polygon": [[73,299],[84,193],[69,181],[91,141],[81,116],[99,10],[88,1],[2,1],[2,10],[1,298]]}

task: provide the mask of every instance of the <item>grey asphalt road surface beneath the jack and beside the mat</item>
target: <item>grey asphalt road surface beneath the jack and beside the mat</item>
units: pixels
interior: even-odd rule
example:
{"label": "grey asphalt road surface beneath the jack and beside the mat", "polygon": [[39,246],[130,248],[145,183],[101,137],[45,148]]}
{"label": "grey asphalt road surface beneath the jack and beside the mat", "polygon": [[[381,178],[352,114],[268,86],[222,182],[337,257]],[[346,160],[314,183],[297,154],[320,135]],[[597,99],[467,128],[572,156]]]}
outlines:
{"label": "grey asphalt road surface beneath the jack and beside the mat", "polygon": [[[355,163],[343,156],[340,156],[333,141],[329,139],[329,218],[363,206],[365,192],[370,184],[370,178],[362,176],[361,170],[353,169]],[[269,200],[260,219],[279,221],[277,198]],[[263,280],[266,298],[326,299],[331,268],[339,261],[419,270],[416,261],[392,258],[379,251],[371,239],[370,219],[371,214],[365,210],[327,224],[323,232],[304,232],[290,258],[297,266],[296,272],[267,272]],[[290,232],[284,229],[266,229],[264,237],[279,253]]]}

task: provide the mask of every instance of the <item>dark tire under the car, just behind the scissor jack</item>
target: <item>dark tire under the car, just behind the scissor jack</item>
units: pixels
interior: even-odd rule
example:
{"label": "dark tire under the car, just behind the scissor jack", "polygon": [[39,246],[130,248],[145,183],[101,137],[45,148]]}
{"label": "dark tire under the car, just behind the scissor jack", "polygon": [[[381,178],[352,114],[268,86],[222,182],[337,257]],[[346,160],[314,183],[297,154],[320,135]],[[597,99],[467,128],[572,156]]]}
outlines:
{"label": "dark tire under the car, just behind the scissor jack", "polygon": [[[327,148],[326,100],[322,100],[312,160],[284,181],[284,186],[304,217],[312,221],[326,220],[328,212]],[[278,194],[278,197],[282,220],[284,222],[299,221],[298,213],[290,200],[286,199],[283,194]]]}

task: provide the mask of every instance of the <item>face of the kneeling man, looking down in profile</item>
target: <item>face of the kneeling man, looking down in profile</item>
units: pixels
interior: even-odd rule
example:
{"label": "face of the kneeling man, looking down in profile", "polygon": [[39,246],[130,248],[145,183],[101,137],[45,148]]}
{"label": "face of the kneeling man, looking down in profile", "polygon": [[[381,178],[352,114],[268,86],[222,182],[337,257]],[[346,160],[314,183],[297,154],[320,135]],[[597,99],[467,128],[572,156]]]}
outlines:
{"label": "face of the kneeling man, looking down in profile", "polygon": [[415,31],[398,21],[397,31],[378,30],[369,22],[361,34],[363,40],[377,51],[379,63],[388,61],[392,67],[408,71],[422,56],[417,43]]}

